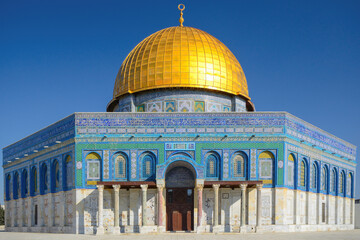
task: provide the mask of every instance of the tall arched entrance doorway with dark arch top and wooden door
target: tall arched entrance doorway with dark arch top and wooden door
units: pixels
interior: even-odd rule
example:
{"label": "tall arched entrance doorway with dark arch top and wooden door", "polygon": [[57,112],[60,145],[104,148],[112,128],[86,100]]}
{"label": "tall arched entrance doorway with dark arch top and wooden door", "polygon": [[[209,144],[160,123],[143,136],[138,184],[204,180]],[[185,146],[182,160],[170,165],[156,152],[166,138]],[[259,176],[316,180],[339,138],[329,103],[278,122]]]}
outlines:
{"label": "tall arched entrance doorway with dark arch top and wooden door", "polygon": [[[186,162],[183,163],[186,164]],[[191,165],[190,167],[192,168]],[[194,229],[194,172],[177,163],[167,172],[165,183],[166,230],[192,231]]]}

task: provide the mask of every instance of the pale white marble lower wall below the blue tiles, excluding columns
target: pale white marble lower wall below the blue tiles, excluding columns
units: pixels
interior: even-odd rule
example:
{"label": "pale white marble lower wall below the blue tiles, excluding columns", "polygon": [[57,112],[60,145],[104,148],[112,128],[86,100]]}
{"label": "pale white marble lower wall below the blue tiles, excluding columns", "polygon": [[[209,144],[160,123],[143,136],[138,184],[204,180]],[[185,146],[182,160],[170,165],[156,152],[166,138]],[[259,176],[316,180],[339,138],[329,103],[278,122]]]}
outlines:
{"label": "pale white marble lower wall below the blue tiles, excluding columns", "polygon": [[[218,232],[301,232],[354,229],[354,200],[321,193],[263,188],[261,226],[257,222],[257,190],[246,190],[245,226],[241,227],[240,188],[219,189]],[[114,191],[104,189],[104,230],[114,230]],[[157,231],[157,189],[147,190],[147,223]],[[164,191],[166,199],[166,191]],[[197,191],[194,196],[194,230],[197,230]],[[203,191],[201,223],[204,231],[214,231],[212,188]],[[141,189],[120,189],[119,222],[121,232],[141,232]],[[6,231],[94,234],[98,225],[98,190],[77,189],[6,201]],[[35,205],[38,222],[35,223]],[[323,210],[324,209],[324,210]],[[166,213],[166,209],[165,209]],[[165,215],[164,213],[164,215]],[[165,218],[164,218],[165,219]]]}

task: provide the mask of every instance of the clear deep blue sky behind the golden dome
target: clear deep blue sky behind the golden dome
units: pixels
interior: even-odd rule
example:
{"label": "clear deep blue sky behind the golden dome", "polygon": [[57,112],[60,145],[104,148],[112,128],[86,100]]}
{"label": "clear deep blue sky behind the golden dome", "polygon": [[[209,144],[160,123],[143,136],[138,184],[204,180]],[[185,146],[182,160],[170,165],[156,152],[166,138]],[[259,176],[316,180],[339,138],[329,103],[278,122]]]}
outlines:
{"label": "clear deep blue sky behind the golden dome", "polygon": [[[179,3],[184,25],[235,54],[257,111],[287,111],[360,145],[360,1],[1,0],[0,147],[105,111],[123,59],[178,25]],[[3,202],[2,169],[0,179]]]}

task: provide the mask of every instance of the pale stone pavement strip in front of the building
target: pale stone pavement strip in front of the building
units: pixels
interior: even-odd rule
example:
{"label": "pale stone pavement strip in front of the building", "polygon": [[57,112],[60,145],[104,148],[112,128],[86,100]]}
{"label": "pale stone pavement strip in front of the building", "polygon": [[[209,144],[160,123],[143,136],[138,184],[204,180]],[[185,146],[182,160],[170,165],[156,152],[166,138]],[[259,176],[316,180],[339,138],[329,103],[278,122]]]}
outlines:
{"label": "pale stone pavement strip in front of the building", "polygon": [[0,232],[0,240],[360,240],[360,229],[336,232],[304,232],[304,233],[263,233],[263,234],[196,234],[196,233],[165,233],[165,234],[122,234],[122,235],[74,235],[51,233],[13,233]]}

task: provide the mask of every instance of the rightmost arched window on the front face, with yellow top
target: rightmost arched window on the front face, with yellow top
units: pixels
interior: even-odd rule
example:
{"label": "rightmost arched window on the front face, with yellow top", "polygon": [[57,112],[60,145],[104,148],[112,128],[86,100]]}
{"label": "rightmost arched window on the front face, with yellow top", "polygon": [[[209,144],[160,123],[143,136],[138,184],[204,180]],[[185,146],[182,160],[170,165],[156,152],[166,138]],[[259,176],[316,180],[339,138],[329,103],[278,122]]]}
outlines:
{"label": "rightmost arched window on the front face, with yellow top", "polygon": [[273,183],[274,161],[275,157],[269,151],[264,151],[259,155],[259,176],[265,184]]}

